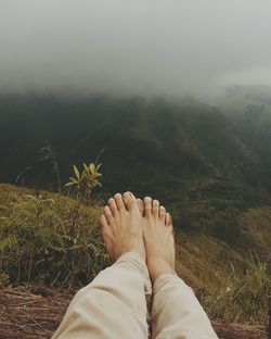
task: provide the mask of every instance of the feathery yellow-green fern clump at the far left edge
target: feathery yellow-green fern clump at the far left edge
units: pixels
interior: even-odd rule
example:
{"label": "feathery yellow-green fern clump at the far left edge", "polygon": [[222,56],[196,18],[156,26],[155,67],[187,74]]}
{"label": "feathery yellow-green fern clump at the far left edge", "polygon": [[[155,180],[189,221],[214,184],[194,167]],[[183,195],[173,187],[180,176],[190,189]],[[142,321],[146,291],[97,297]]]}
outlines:
{"label": "feathery yellow-green fern clump at the far left edge", "polygon": [[[63,227],[53,206],[52,199],[30,194],[12,203],[10,215],[2,217],[0,249],[9,253],[4,262],[17,261],[17,279],[21,268],[27,263],[27,281],[31,279],[33,259],[43,255],[49,248],[61,246],[62,239],[56,229]],[[43,253],[42,253],[43,252]],[[13,255],[12,255],[13,254]]]}

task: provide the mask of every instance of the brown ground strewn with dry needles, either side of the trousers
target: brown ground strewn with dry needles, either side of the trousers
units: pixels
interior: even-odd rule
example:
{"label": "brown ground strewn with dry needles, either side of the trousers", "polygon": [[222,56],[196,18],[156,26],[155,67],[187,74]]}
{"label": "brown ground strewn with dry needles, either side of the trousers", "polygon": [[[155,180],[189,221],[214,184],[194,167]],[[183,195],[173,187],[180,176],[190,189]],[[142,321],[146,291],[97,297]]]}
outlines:
{"label": "brown ground strewn with dry needles, either side of the trousers", "polygon": [[[73,294],[43,287],[0,291],[0,339],[51,338]],[[220,339],[266,339],[264,328],[212,323]]]}

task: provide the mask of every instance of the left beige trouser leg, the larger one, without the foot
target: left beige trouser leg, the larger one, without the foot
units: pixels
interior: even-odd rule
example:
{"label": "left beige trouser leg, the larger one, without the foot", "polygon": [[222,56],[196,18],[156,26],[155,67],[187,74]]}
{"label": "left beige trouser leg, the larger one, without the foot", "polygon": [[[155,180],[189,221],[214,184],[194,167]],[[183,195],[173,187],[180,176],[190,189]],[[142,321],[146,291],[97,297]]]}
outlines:
{"label": "left beige trouser leg, the larger one, without the foot", "polygon": [[78,291],[53,339],[147,338],[151,281],[142,258],[125,253]]}

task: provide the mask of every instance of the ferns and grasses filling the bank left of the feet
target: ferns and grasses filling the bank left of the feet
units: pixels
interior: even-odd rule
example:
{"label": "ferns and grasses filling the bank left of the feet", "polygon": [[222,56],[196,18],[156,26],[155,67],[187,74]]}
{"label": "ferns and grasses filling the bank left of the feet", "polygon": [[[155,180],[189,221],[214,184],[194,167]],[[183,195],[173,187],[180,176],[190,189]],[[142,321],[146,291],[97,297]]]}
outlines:
{"label": "ferns and grasses filling the bank left of the feet", "polygon": [[96,227],[100,209],[44,194],[9,204],[0,219],[0,269],[13,284],[87,284],[107,261]]}

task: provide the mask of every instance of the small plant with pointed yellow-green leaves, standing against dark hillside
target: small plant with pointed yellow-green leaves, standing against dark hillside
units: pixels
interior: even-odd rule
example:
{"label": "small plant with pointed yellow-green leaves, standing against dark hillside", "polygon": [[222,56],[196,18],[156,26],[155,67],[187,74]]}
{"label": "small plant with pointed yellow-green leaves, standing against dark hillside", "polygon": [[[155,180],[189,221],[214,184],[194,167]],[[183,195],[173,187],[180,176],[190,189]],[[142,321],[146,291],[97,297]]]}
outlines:
{"label": "small plant with pointed yellow-green leaves, standing against dark hillside", "polygon": [[80,173],[76,165],[74,165],[74,177],[69,177],[69,181],[65,185],[65,187],[74,187],[81,197],[86,197],[91,193],[92,189],[96,186],[102,186],[99,181],[99,177],[102,174],[99,172],[102,164],[93,164],[90,163],[87,165],[83,163],[83,170]]}

